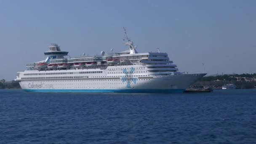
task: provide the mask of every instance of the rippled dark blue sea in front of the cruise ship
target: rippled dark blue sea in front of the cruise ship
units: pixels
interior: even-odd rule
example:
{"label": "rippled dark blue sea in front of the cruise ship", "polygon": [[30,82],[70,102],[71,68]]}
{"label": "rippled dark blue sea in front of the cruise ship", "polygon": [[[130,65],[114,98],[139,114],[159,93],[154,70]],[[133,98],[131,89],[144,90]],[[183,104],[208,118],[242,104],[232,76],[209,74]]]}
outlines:
{"label": "rippled dark blue sea in front of the cruise ship", "polygon": [[0,144],[256,143],[256,89],[211,93],[0,90]]}

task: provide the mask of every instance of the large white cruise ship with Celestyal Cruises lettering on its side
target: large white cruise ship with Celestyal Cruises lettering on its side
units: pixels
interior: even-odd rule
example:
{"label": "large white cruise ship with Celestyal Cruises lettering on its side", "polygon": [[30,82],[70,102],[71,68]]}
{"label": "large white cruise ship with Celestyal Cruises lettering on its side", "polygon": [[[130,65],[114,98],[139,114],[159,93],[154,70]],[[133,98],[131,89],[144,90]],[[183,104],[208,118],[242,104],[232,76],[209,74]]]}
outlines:
{"label": "large white cruise ship with Celestyal Cruises lettering on its side", "polygon": [[138,53],[125,31],[127,51],[67,58],[51,44],[46,59],[27,64],[16,81],[27,92],[182,93],[204,73],[179,72],[167,53]]}

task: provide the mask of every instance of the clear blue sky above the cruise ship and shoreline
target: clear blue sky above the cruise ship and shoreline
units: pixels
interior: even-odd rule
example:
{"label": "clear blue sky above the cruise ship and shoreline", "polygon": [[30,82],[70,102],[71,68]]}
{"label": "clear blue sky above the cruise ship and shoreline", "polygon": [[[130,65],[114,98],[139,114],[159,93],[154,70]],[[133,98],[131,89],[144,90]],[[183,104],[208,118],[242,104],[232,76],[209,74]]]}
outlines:
{"label": "clear blue sky above the cruise ship and shoreline", "polygon": [[181,72],[256,72],[256,0],[0,0],[0,78],[45,59],[126,49],[167,52]]}

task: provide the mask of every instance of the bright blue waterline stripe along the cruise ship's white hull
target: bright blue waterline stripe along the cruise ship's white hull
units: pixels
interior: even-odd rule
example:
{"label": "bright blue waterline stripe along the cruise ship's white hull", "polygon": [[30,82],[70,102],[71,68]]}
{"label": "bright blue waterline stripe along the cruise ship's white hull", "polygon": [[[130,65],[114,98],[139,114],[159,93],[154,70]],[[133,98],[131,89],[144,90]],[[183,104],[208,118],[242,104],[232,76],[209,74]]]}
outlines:
{"label": "bright blue waterline stripe along the cruise ship's white hull", "polygon": [[137,89],[124,89],[124,90],[86,90],[86,89],[24,89],[26,92],[43,92],[43,93],[183,93],[184,89],[169,89],[169,90],[137,90]]}

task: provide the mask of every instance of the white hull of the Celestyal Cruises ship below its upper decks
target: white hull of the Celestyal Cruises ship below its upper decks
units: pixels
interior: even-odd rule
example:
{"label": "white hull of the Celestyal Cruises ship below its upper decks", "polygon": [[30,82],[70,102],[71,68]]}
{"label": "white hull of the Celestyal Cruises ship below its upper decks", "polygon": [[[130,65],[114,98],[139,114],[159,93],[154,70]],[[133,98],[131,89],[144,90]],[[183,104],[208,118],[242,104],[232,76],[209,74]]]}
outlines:
{"label": "white hull of the Celestyal Cruises ship below its upper decks", "polygon": [[[125,80],[122,80],[125,75],[112,75],[114,77],[110,75],[102,77],[102,75],[104,74],[72,79],[58,79],[58,75],[56,75],[56,79],[53,78],[51,80],[22,80],[20,85],[24,91],[28,92],[177,93],[183,92],[189,85],[195,83],[205,74],[181,74],[160,77],[138,74],[129,75]],[[136,81],[133,79],[136,79]]]}

